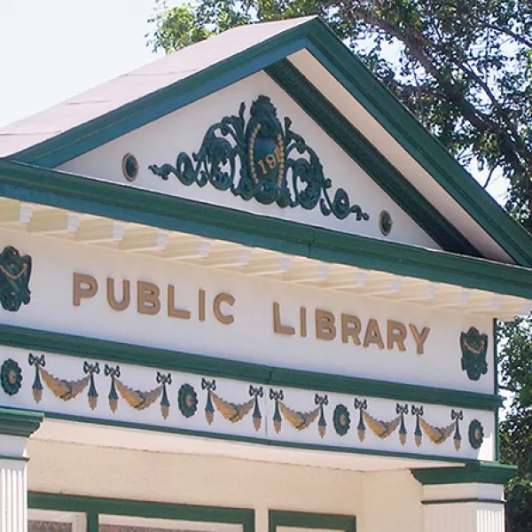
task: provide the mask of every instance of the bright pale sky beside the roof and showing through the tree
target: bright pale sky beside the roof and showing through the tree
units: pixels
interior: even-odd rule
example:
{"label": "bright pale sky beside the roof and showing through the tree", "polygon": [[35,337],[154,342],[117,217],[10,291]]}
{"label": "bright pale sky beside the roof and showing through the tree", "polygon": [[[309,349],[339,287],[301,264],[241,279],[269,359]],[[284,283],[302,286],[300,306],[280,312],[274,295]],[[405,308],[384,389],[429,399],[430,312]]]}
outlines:
{"label": "bright pale sky beside the roof and showing through the tree", "polygon": [[[0,0],[0,127],[157,59],[145,39],[155,4]],[[505,179],[489,192],[504,200]]]}

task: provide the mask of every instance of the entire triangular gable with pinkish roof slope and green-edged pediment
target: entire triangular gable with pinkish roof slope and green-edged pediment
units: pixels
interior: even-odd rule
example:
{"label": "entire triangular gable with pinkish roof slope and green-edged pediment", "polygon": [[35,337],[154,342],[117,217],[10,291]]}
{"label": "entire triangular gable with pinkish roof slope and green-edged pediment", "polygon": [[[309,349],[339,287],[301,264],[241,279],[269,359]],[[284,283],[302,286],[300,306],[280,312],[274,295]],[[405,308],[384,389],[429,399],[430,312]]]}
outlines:
{"label": "entire triangular gable with pinkish roof slope and green-edged pediment", "polygon": [[[4,155],[255,216],[532,263],[528,234],[317,18],[236,28],[78,99],[0,131]],[[273,108],[270,134],[261,113]]]}

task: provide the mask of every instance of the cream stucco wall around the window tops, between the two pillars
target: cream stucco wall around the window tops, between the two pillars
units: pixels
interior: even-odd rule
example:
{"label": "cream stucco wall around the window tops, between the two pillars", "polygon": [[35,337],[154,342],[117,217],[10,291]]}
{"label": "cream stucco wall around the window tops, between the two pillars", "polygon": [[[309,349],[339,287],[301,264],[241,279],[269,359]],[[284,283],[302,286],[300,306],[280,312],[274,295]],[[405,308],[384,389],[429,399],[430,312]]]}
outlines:
{"label": "cream stucco wall around the window tops, between the two pillars", "polygon": [[28,489],[191,505],[356,516],[357,532],[422,532],[421,486],[408,471],[359,473],[232,458],[32,440]]}

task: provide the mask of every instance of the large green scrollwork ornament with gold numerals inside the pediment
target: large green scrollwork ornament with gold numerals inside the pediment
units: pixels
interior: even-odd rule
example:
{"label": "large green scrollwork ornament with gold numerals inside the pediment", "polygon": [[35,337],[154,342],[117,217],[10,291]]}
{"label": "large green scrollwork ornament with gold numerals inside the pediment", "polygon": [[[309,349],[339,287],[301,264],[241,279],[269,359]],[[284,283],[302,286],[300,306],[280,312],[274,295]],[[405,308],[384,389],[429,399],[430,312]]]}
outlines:
{"label": "large green scrollwork ornament with gold numerals inside the pediment", "polygon": [[319,203],[325,216],[370,219],[360,206],[351,204],[344,189],[339,188],[331,199],[332,181],[324,176],[317,153],[293,132],[289,118],[281,125],[270,98],[259,96],[254,101],[247,124],[245,111],[242,102],[238,116],[225,116],[212,125],[200,151],[192,157],[179,153],[175,167],[167,163],[148,168],[164,180],[174,174],[186,186],[210,183],[219,191],[230,190],[243,200],[254,199],[263,205],[312,210]]}

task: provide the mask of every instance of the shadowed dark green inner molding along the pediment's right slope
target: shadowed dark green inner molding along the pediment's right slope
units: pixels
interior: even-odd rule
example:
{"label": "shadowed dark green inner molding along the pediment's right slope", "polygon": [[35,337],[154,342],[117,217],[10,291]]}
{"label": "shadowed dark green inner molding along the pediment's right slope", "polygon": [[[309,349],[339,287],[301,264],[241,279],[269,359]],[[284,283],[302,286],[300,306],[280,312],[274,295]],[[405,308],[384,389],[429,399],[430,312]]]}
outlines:
{"label": "shadowed dark green inner molding along the pediment's right slope", "polygon": [[265,71],[443,249],[481,256],[288,59]]}

